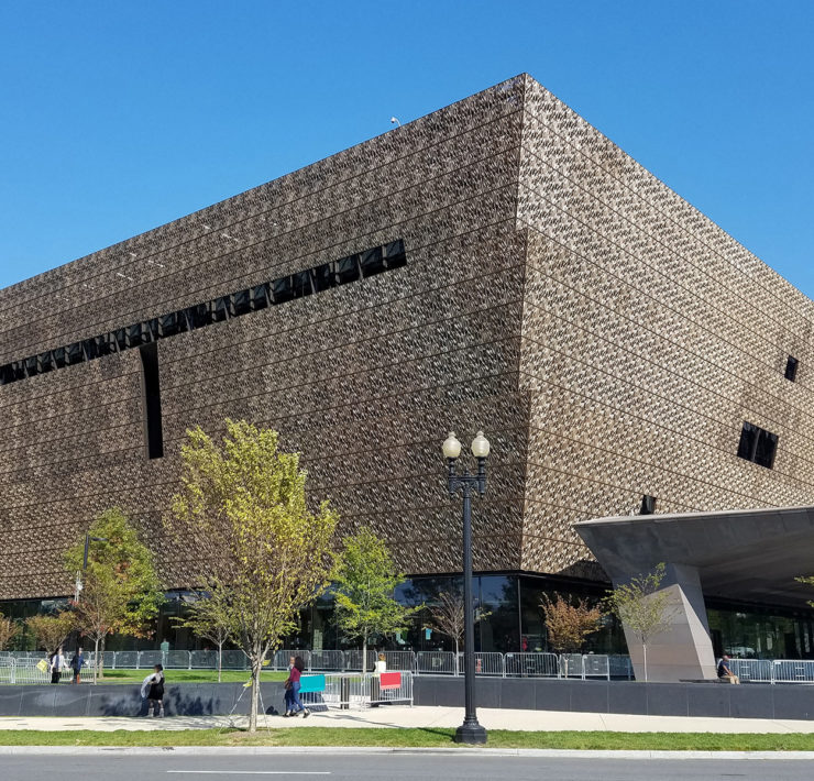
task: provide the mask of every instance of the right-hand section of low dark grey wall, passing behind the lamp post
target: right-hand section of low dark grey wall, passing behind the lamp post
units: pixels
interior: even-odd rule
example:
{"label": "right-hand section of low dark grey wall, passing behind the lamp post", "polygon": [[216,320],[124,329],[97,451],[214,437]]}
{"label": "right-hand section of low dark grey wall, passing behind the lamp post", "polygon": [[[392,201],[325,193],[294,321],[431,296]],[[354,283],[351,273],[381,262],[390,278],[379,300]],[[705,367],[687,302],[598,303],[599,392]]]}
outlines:
{"label": "right-hand section of low dark grey wall, passing behind the lamp post", "polygon": [[[479,707],[630,713],[651,716],[732,716],[814,719],[814,686],[748,683],[637,683],[479,678]],[[463,707],[463,679],[414,679],[416,705]]]}

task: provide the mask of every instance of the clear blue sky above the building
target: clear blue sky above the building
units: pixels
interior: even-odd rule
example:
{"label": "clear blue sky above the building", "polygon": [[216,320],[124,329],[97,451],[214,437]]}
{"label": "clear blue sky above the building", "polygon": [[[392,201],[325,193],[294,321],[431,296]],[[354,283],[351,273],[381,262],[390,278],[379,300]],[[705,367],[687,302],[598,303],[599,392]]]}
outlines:
{"label": "clear blue sky above the building", "polygon": [[814,2],[0,4],[0,287],[524,70],[814,297]]}

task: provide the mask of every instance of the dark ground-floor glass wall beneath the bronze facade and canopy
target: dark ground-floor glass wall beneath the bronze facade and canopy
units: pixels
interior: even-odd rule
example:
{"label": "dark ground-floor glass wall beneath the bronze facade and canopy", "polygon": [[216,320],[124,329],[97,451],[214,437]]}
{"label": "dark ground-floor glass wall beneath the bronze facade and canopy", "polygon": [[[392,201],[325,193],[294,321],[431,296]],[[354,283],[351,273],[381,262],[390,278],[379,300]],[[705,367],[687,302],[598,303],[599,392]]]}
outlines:
{"label": "dark ground-floor glass wall beneath the bronze facade and canopy", "polygon": [[[527,574],[483,574],[473,579],[475,610],[475,650],[550,651],[540,603],[543,596],[563,594],[598,603],[607,585],[590,581],[544,578]],[[396,596],[419,609],[408,628],[377,645],[392,650],[453,650],[454,639],[438,630],[432,617],[441,595],[461,600],[463,581],[460,575],[428,575],[407,580]],[[161,608],[155,634],[150,638],[113,636],[108,650],[142,650],[157,648],[163,640],[170,649],[191,650],[210,647],[207,640],[193,637],[179,627],[196,592],[169,592]],[[23,623],[37,613],[52,613],[67,607],[67,600],[21,600],[0,603],[0,613]],[[814,659],[814,610],[781,608],[756,604],[707,601],[707,615],[716,657],[726,652],[746,659]],[[69,645],[77,641],[72,638]],[[337,631],[334,602],[329,593],[302,612],[297,630],[284,641],[286,648],[336,649],[356,647]],[[34,638],[23,630],[12,640],[12,650],[34,650]],[[598,631],[585,639],[585,652],[626,653],[622,628],[613,617],[602,620]]]}

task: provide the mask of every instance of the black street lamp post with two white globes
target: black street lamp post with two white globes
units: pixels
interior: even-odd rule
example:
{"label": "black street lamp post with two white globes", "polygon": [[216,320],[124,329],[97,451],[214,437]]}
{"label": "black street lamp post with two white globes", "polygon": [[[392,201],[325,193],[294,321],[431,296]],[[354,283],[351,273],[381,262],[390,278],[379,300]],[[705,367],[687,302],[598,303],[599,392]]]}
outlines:
{"label": "black street lamp post with two white globes", "polygon": [[488,440],[483,431],[472,440],[472,454],[477,459],[477,474],[470,474],[466,466],[463,474],[455,473],[455,462],[461,454],[461,443],[453,431],[442,446],[447,459],[447,476],[450,496],[459,490],[463,492],[463,674],[465,713],[463,724],[455,730],[455,743],[485,744],[486,729],[477,722],[475,713],[475,622],[472,601],[472,488],[480,496],[486,493],[486,458],[490,454]]}

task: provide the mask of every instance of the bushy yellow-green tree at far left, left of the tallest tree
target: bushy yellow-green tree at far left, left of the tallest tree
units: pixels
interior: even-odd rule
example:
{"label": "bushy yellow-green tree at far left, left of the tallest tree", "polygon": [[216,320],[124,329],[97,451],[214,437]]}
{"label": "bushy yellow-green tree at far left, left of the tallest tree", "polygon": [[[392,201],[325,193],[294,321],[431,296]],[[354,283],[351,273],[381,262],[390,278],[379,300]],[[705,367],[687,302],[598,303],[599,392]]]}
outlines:
{"label": "bushy yellow-green tree at far left, left of the tallest tree", "polygon": [[100,646],[114,632],[150,637],[164,602],[153,554],[118,507],[105,510],[88,534],[99,538],[89,548],[82,571],[85,536],[65,554],[68,572],[81,572],[82,587],[74,605],[79,631],[94,641],[94,682],[105,676]]}

